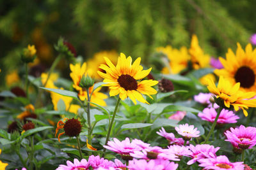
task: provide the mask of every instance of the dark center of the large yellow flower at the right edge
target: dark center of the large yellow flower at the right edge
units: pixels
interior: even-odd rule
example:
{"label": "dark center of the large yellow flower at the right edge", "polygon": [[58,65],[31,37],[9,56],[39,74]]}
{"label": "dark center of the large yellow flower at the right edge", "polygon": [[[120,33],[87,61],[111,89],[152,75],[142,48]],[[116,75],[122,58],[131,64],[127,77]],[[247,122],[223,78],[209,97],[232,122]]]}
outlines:
{"label": "dark center of the large yellow flower at the right edge", "polygon": [[235,74],[236,82],[240,82],[240,86],[243,88],[250,88],[254,85],[255,74],[250,67],[242,66],[237,69]]}

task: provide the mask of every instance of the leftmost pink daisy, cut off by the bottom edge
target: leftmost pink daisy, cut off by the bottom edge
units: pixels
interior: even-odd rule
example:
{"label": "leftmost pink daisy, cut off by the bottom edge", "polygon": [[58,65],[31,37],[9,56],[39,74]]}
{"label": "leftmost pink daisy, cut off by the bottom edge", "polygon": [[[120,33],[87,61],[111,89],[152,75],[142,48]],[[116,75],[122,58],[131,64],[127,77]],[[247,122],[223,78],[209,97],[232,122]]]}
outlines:
{"label": "leftmost pink daisy, cut off by the bottom edge", "polygon": [[86,159],[82,159],[81,162],[79,162],[78,159],[74,159],[74,164],[68,160],[67,166],[60,165],[56,170],[75,170],[75,169],[77,170],[79,168],[88,169],[89,166],[90,164],[87,162]]}

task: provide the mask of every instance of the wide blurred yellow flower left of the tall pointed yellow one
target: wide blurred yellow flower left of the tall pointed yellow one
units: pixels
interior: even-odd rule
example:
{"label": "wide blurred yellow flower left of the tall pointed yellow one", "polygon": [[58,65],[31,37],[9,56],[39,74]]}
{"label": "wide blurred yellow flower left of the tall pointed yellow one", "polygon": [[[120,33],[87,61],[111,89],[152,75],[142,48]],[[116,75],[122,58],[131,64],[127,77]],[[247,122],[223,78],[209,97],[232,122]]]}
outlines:
{"label": "wide blurred yellow flower left of the tall pointed yellow one", "polygon": [[164,67],[162,70],[163,74],[178,74],[188,67],[190,55],[185,46],[182,46],[180,50],[178,50],[168,45],[166,47],[159,47],[156,50],[157,52],[164,53],[169,60],[168,66]]}

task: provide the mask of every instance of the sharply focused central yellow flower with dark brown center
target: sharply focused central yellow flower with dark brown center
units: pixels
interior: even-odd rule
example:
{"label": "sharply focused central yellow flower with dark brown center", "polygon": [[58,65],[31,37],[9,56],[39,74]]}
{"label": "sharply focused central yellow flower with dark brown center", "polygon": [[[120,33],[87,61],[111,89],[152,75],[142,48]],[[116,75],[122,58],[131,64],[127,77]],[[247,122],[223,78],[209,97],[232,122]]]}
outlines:
{"label": "sharply focused central yellow flower with dark brown center", "polygon": [[106,82],[104,86],[109,87],[109,96],[119,94],[122,100],[129,97],[134,104],[136,104],[136,99],[141,103],[148,104],[141,94],[146,94],[152,98],[150,95],[157,93],[152,86],[156,85],[158,81],[137,81],[145,78],[152,69],[143,70],[143,67],[140,66],[140,57],[132,64],[132,58],[130,56],[126,58],[124,53],[121,53],[116,66],[107,57],[104,57],[104,59],[107,65],[101,64],[99,68],[106,71],[106,73],[102,73],[101,71],[97,73],[104,78],[103,82]]}

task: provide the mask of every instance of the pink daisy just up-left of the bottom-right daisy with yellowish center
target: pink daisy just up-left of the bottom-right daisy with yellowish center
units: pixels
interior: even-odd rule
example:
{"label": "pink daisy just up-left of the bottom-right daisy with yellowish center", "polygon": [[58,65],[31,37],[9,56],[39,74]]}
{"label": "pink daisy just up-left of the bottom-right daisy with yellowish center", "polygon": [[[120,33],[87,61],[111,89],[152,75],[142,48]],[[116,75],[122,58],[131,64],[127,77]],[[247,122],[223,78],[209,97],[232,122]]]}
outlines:
{"label": "pink daisy just up-left of the bottom-right daisy with yellowish center", "polygon": [[191,150],[192,159],[188,161],[188,165],[194,164],[199,159],[214,158],[216,157],[216,152],[220,147],[214,148],[212,145],[202,144],[202,145],[189,145],[189,150]]}

